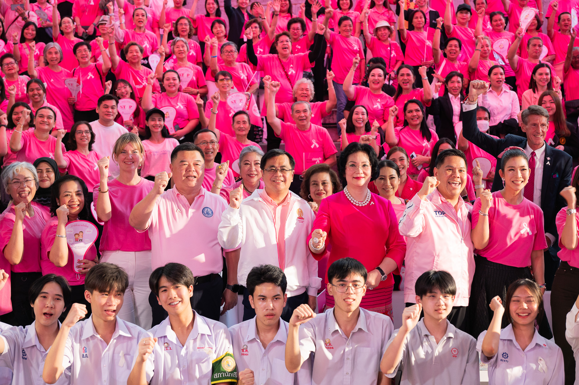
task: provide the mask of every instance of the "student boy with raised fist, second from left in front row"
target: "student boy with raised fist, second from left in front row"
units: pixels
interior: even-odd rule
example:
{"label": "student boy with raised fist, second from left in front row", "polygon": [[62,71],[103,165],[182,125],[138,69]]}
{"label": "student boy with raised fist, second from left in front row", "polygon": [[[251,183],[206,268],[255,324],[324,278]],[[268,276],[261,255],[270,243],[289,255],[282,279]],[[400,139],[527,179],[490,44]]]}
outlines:
{"label": "student boy with raised fist, second from left in front row", "polygon": [[[54,384],[70,366],[71,385],[124,384],[137,357],[137,343],[146,331],[121,320],[129,276],[115,264],[101,262],[86,274],[85,298],[92,314],[85,317],[86,305],[73,303],[49,350],[42,379]],[[78,323],[77,323],[78,322]]]}

